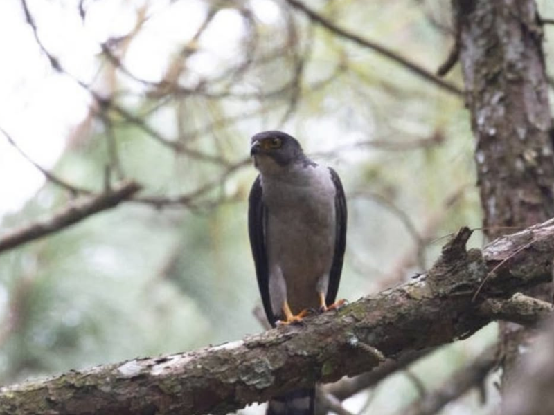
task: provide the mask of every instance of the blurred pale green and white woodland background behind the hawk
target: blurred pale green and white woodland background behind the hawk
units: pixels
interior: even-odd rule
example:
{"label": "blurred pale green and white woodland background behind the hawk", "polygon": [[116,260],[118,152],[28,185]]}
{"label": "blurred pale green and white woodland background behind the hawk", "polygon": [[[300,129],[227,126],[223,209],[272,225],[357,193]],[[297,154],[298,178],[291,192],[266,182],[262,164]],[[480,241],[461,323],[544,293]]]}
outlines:
{"label": "blurred pale green and white woodland background behind the hawk", "polygon": [[[0,240],[122,181],[143,186],[0,251],[2,385],[262,331],[247,235],[259,131],[292,134],[342,178],[339,297],[405,282],[449,234],[479,228],[460,70],[433,75],[454,44],[449,2],[305,5],[318,15],[284,0],[0,3]],[[394,413],[495,337],[490,325],[346,407]],[[487,405],[473,392],[441,413],[488,413],[492,382]]]}

